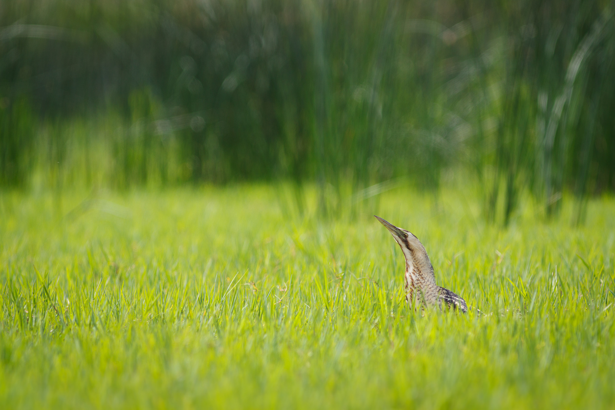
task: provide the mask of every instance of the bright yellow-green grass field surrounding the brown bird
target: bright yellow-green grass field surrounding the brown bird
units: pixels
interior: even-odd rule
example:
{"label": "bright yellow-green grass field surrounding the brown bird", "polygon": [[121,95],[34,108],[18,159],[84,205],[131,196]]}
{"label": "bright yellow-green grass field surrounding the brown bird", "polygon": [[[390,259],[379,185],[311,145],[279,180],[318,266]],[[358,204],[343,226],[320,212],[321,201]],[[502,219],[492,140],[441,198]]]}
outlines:
{"label": "bright yellow-green grass field surrounding the brown bird", "polygon": [[[285,203],[268,186],[1,194],[0,408],[615,405],[612,197],[581,227],[525,200],[507,229],[454,189],[336,220]],[[368,210],[491,314],[408,309]]]}

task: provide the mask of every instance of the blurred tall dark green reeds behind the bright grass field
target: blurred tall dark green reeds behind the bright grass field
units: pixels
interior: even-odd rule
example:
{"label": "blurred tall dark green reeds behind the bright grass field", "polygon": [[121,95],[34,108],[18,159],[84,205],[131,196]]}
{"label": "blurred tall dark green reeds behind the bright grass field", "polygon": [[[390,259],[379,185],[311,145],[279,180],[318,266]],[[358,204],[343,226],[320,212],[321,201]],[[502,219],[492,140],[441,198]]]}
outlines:
{"label": "blurred tall dark green reeds behind the bright grass field", "polygon": [[[0,2],[0,184],[615,189],[613,1]],[[300,197],[300,195],[298,195]],[[337,202],[336,202],[337,201]]]}

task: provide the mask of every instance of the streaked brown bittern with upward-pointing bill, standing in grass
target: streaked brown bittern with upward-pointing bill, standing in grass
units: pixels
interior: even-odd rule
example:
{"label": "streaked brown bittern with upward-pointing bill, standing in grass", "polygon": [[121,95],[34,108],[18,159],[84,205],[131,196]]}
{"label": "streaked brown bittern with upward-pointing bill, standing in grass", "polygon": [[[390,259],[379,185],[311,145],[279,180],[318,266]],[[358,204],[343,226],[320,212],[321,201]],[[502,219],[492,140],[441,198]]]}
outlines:
{"label": "streaked brown bittern with upward-pointing bill, standing in grass", "polygon": [[[374,215],[376,216],[376,215]],[[412,234],[383,218],[376,219],[391,232],[395,241],[402,248],[406,258],[406,301],[410,306],[434,306],[442,309],[443,305],[449,309],[459,309],[467,312],[467,304],[463,298],[452,291],[435,284],[434,267],[429,260],[423,243]]]}

